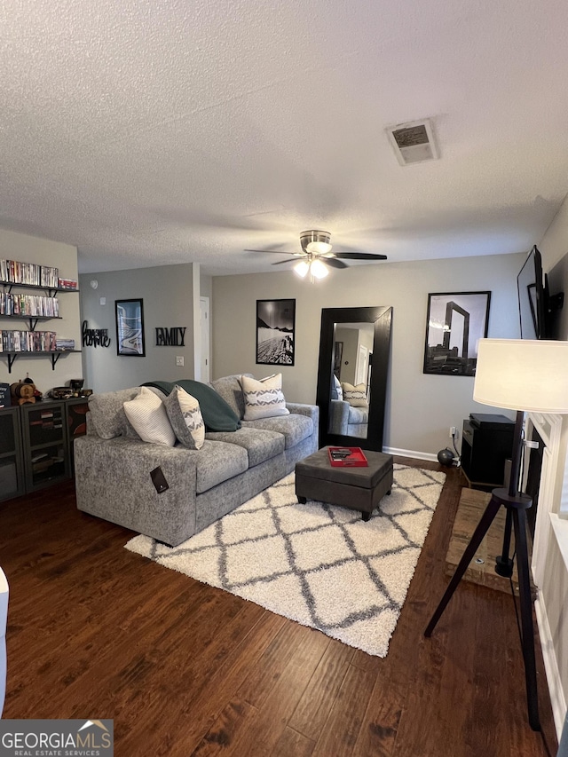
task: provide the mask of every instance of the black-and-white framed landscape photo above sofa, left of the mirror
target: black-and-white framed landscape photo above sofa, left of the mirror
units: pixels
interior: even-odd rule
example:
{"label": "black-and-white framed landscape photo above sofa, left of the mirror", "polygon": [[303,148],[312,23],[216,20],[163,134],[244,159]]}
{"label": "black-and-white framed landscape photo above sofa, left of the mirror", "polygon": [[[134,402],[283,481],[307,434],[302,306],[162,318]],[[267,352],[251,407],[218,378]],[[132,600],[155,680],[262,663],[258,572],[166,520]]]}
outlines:
{"label": "black-and-white framed landscape photo above sofa, left of the mirror", "polygon": [[256,363],[294,365],[296,300],[256,300]]}

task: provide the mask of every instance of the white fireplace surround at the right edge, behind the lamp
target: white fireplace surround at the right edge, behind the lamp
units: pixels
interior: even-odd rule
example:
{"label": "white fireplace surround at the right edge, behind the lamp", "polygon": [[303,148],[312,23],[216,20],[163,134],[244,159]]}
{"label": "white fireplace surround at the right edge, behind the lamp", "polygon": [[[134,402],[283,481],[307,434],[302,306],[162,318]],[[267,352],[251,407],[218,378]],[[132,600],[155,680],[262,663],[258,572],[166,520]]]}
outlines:
{"label": "white fireplace surround at the right edge, behind the lamp", "polygon": [[[533,581],[538,589],[535,611],[539,624],[540,645],[547,673],[548,690],[558,739],[566,715],[566,692],[563,677],[568,668],[568,650],[563,641],[566,621],[562,607],[552,606],[548,585],[568,587],[568,455],[566,416],[529,413],[529,422],[538,431],[545,446],[540,472],[539,503],[533,540]],[[527,437],[528,438],[528,437]],[[556,556],[551,577],[551,552]],[[559,575],[558,571],[564,575]],[[563,592],[559,594],[562,596]],[[547,601],[549,606],[547,606]],[[557,603],[555,603],[557,604]],[[568,685],[568,684],[566,684]]]}

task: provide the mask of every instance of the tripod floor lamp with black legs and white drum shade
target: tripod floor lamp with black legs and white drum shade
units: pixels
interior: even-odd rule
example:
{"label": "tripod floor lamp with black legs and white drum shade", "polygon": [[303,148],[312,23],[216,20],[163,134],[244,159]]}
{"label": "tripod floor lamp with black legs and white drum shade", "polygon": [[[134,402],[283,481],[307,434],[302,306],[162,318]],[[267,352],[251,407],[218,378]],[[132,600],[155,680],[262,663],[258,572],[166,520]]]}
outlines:
{"label": "tripod floor lamp with black legs and white drum shade", "polygon": [[485,533],[501,508],[507,510],[503,548],[495,571],[510,577],[513,559],[509,556],[511,528],[515,529],[517,574],[521,615],[521,643],[525,661],[525,684],[529,723],[540,730],[536,664],[534,655],[533,607],[526,540],[526,510],[533,501],[520,492],[519,477],[523,456],[525,412],[568,414],[568,342],[522,339],[481,339],[477,352],[473,386],[476,402],[517,411],[509,488],[493,489],[491,500],[465,549],[446,594],[424,631],[430,636],[446,604],[452,598]]}

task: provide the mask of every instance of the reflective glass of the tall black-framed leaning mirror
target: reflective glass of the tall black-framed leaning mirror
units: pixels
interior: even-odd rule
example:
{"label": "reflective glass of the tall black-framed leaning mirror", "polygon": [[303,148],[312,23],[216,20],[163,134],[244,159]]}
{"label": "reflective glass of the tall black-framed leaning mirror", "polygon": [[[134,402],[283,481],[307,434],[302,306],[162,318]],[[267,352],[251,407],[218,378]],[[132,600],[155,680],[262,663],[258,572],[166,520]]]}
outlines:
{"label": "reflective glass of the tall black-framed leaning mirror", "polygon": [[374,337],[371,323],[334,324],[328,424],[332,434],[367,438]]}

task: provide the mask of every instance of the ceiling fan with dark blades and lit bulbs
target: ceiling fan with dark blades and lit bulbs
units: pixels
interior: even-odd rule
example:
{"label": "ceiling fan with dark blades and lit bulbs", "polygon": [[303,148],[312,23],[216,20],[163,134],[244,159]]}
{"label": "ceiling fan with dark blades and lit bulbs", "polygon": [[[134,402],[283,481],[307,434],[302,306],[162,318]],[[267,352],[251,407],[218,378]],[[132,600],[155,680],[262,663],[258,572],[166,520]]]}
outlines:
{"label": "ceiling fan with dark blades and lit bulbs", "polygon": [[347,268],[348,265],[343,260],[386,260],[386,255],[375,255],[371,252],[332,252],[329,239],[329,232],[322,232],[319,229],[310,229],[300,234],[301,251],[298,252],[279,252],[275,249],[247,249],[245,252],[268,252],[277,255],[291,255],[288,260],[278,260],[272,265],[282,263],[292,263],[294,257],[299,261],[294,266],[294,271],[303,279],[308,274],[310,280],[324,279],[327,276],[327,266],[332,268]]}

